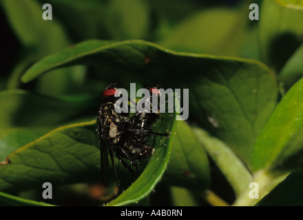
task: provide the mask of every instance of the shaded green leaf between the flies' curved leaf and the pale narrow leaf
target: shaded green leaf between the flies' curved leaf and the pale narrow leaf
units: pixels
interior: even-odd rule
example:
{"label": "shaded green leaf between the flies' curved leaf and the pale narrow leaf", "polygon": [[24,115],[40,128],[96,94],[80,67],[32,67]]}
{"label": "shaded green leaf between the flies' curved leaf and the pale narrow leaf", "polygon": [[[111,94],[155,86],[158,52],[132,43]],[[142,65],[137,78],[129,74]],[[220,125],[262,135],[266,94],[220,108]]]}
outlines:
{"label": "shaded green leaf between the flies' curved leaf and the pale narrow leaf", "polygon": [[171,186],[205,190],[210,184],[209,161],[188,124],[180,121],[163,180]]}

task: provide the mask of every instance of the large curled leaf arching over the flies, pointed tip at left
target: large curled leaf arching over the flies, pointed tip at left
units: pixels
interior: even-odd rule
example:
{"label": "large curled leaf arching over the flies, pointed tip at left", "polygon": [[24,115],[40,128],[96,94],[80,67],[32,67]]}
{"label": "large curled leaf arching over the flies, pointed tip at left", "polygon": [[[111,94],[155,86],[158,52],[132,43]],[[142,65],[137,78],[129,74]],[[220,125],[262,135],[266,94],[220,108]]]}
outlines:
{"label": "large curled leaf arching over the flies, pointed tip at left", "polygon": [[22,80],[76,64],[96,65],[103,78],[120,78],[125,85],[188,88],[191,119],[208,126],[245,162],[278,95],[275,78],[262,63],[174,52],[145,41],[85,41],[43,58]]}

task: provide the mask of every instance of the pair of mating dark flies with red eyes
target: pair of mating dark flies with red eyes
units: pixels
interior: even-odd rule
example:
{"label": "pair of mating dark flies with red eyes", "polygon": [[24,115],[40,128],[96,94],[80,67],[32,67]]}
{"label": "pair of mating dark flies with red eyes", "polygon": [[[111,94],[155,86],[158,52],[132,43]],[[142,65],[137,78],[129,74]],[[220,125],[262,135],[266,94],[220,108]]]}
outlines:
{"label": "pair of mating dark flies with red eyes", "polygon": [[[149,89],[152,94],[159,95],[158,87]],[[116,95],[116,96],[115,96]],[[112,161],[114,176],[118,184],[116,166],[114,164],[114,153],[119,161],[134,176],[138,176],[138,159],[147,158],[153,151],[154,146],[149,144],[149,137],[154,135],[165,135],[169,133],[156,133],[151,131],[151,126],[159,118],[158,112],[136,111],[135,113],[117,113],[115,103],[120,98],[118,89],[109,85],[101,94],[104,103],[101,105],[96,118],[97,134],[101,146],[101,170],[103,180],[106,182],[106,170],[108,168],[108,155]],[[151,100],[151,99],[149,99]],[[129,102],[134,102],[129,100]],[[149,103],[150,107],[152,103]],[[155,140],[155,139],[154,139]],[[154,144],[153,144],[154,145]],[[132,168],[136,169],[136,171]]]}

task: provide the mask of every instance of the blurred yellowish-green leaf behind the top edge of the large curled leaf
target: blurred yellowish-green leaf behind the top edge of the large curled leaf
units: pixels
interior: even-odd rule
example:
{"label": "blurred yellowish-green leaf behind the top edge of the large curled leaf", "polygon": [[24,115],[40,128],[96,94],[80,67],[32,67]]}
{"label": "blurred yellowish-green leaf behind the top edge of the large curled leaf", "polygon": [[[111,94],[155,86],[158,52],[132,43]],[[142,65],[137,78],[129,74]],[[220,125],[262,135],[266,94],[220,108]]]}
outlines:
{"label": "blurred yellowish-green leaf behind the top edge of the large curled leaf", "polygon": [[182,52],[236,56],[244,36],[243,15],[227,8],[203,10],[181,21],[159,44]]}

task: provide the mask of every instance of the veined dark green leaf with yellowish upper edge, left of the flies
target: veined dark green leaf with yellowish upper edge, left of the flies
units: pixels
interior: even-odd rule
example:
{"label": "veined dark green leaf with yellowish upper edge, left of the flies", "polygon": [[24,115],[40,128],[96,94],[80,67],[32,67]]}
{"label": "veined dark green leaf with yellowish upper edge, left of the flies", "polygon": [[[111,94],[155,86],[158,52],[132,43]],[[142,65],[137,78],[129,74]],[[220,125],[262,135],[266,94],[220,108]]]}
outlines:
{"label": "veined dark green leaf with yellowish upper edge, left of the flies", "polygon": [[8,155],[0,166],[0,190],[38,189],[98,179],[100,152],[93,122],[62,126]]}

